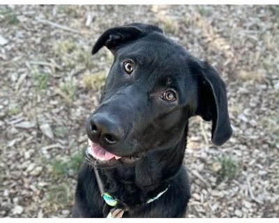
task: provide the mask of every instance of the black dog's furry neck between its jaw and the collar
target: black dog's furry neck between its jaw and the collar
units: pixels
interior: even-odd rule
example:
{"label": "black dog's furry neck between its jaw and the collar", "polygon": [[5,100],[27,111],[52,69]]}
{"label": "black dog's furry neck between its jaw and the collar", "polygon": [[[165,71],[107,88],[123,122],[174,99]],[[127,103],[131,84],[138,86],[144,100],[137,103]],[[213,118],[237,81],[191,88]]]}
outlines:
{"label": "black dog's furry neck between its jaw and the collar", "polygon": [[125,164],[110,169],[100,168],[100,177],[105,190],[128,206],[145,203],[165,190],[181,168],[186,149],[186,125],[183,137],[175,146],[152,149],[133,164]]}

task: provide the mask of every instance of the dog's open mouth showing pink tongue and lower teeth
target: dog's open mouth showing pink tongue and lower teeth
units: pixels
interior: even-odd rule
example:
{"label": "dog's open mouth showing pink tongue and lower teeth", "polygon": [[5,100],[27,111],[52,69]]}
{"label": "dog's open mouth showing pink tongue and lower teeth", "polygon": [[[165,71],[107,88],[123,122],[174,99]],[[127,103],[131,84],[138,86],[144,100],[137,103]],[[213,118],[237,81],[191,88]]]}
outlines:
{"label": "dog's open mouth showing pink tongue and lower teeth", "polygon": [[87,153],[91,155],[95,160],[106,162],[108,160],[119,160],[121,156],[114,155],[109,151],[106,151],[105,148],[100,146],[99,144],[93,143],[90,139],[88,139],[89,146],[87,147]]}

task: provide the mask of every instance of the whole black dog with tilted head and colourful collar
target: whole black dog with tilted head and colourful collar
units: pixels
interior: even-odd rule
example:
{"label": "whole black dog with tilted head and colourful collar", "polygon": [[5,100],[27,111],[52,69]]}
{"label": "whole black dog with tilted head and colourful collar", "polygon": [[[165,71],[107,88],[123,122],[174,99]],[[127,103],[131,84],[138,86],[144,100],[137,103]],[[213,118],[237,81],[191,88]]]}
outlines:
{"label": "whole black dog with tilted head and colourful collar", "polygon": [[93,54],[103,45],[114,63],[86,126],[88,162],[79,174],[73,217],[184,217],[188,119],[212,121],[213,144],[224,144],[232,135],[225,84],[156,26],[108,29]]}

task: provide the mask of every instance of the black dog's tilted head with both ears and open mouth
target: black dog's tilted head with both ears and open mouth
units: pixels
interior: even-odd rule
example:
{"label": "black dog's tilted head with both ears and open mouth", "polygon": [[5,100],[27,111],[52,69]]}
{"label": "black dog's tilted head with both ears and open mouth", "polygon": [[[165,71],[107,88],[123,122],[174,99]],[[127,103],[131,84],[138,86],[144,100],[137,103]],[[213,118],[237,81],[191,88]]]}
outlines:
{"label": "black dog's tilted head with both ears and open mouth", "polygon": [[212,121],[213,144],[231,137],[225,84],[208,63],[147,24],[108,29],[93,54],[104,45],[114,62],[86,126],[96,160],[133,162],[153,148],[179,144],[195,115]]}

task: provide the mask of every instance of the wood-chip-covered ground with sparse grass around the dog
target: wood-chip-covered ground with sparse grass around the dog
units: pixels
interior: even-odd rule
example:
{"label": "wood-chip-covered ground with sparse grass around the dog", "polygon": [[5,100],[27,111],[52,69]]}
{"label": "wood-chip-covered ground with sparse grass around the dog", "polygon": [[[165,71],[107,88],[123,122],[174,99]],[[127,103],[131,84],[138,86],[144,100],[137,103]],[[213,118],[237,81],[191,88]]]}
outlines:
{"label": "wood-chip-covered ground with sparse grass around the dog", "polygon": [[69,217],[113,60],[103,31],[156,24],[227,85],[234,134],[191,118],[186,217],[279,217],[278,6],[0,6],[0,217]]}

